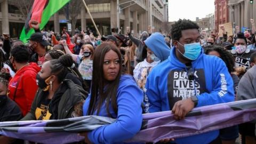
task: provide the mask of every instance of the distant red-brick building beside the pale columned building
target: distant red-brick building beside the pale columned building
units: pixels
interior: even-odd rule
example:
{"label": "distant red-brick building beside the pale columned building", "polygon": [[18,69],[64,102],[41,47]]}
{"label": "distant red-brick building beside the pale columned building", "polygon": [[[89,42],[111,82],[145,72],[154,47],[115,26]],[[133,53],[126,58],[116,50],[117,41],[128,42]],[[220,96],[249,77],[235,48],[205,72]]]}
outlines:
{"label": "distant red-brick building beside the pale columned building", "polygon": [[219,29],[219,25],[229,22],[228,0],[215,0],[215,29]]}

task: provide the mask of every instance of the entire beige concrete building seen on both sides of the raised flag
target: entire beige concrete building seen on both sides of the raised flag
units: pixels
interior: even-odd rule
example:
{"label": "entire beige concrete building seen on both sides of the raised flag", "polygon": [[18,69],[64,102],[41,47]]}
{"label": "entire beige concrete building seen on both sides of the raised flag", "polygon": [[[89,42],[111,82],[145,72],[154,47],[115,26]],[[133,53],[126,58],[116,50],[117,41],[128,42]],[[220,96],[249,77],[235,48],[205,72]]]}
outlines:
{"label": "entire beige concrete building seen on both sides of the raised flag", "polygon": [[[164,31],[163,22],[168,21],[168,6],[166,0],[93,0],[86,1],[89,11],[103,35],[111,34],[111,30],[121,29],[126,33],[126,27],[130,27],[133,34],[138,36],[147,30],[150,25],[155,31]],[[0,0],[0,33],[10,33],[12,37],[18,37],[25,23],[17,7],[10,5],[11,0]],[[85,11],[81,2],[81,13],[77,16],[76,27],[80,30],[88,28],[95,31],[89,14]],[[47,30],[60,32],[66,23],[65,14],[56,13],[46,25]]]}

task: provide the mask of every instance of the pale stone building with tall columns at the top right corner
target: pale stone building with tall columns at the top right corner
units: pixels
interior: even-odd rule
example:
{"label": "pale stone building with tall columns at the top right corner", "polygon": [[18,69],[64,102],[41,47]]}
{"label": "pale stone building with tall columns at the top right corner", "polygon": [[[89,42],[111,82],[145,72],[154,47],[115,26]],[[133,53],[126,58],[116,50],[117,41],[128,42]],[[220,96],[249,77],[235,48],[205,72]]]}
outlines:
{"label": "pale stone building with tall columns at the top right corner", "polygon": [[233,28],[239,26],[252,28],[250,19],[256,21],[256,1],[250,4],[250,0],[229,0],[230,22],[233,22]]}

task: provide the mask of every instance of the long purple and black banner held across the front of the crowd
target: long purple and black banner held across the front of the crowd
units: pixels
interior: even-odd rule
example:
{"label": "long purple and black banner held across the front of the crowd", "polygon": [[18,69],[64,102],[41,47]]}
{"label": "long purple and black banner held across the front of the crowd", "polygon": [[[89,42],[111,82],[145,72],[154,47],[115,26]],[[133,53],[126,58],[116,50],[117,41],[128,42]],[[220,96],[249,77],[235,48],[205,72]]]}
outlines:
{"label": "long purple and black banner held across the front of the crowd", "polygon": [[[256,99],[221,103],[193,109],[176,121],[171,111],[143,115],[143,127],[130,142],[157,142],[166,138],[219,130],[256,119]],[[84,116],[50,121],[2,122],[0,135],[39,143],[69,143],[83,140],[79,132],[91,131],[115,119]]]}

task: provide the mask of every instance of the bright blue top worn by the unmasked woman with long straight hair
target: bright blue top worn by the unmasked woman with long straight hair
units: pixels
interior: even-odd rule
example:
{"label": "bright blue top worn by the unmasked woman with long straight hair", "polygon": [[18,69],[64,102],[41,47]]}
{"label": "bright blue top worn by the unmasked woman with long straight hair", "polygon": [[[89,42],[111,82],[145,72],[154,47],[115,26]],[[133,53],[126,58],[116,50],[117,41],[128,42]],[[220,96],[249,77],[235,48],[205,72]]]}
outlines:
{"label": "bright blue top worn by the unmasked woman with long straight hair", "polygon": [[[89,94],[83,106],[84,116],[87,115],[90,98],[91,95]],[[134,137],[140,131],[143,92],[139,89],[132,76],[121,76],[116,98],[118,114],[114,112],[111,103],[109,103],[110,115],[117,119],[116,122],[89,132],[88,138],[92,143],[122,143],[122,141]],[[94,115],[97,114],[94,113]],[[103,103],[99,116],[108,117],[106,103]]]}

